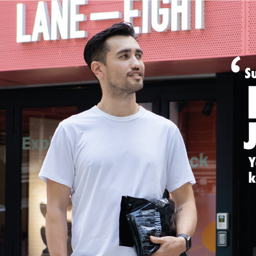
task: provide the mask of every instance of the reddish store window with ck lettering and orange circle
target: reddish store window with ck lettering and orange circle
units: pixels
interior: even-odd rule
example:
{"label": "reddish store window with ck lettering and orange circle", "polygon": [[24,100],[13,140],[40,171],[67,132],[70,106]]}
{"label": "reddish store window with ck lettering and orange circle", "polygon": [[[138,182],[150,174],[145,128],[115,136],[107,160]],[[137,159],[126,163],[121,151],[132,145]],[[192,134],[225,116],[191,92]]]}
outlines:
{"label": "reddish store window with ck lettering and orange circle", "polygon": [[216,103],[170,102],[169,118],[180,129],[189,163],[195,175],[193,186],[197,227],[188,256],[215,256],[216,211]]}

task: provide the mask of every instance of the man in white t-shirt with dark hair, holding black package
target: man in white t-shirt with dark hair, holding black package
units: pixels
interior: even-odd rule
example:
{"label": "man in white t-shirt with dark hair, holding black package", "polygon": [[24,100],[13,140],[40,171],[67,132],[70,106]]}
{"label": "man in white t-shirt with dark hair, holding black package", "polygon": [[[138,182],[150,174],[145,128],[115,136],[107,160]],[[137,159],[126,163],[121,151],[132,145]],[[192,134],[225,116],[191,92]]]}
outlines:
{"label": "man in white t-shirt with dark hair, holding black package", "polygon": [[[195,183],[178,128],[135,101],[142,89],[142,50],[130,23],[116,23],[90,39],[84,57],[102,89],[98,106],[61,122],[39,177],[47,181],[46,237],[51,256],[67,255],[66,210],[73,202],[74,256],[134,256],[119,246],[122,196],[162,197],[176,204],[177,234],[192,236]],[[185,237],[150,237],[153,255],[178,256]]]}

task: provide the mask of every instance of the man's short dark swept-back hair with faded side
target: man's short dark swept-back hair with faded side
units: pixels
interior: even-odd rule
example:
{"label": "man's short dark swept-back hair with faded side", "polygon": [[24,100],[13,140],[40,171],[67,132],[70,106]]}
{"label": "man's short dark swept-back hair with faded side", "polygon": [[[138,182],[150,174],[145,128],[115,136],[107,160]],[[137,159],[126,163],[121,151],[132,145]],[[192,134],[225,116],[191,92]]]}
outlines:
{"label": "man's short dark swept-back hair with faded side", "polygon": [[[110,50],[106,40],[111,36],[132,36],[134,39],[137,38],[134,26],[126,21],[115,23],[110,28],[94,35],[84,47],[84,60],[90,69],[93,61],[100,61],[106,66],[106,55]],[[94,77],[98,80],[95,75]]]}

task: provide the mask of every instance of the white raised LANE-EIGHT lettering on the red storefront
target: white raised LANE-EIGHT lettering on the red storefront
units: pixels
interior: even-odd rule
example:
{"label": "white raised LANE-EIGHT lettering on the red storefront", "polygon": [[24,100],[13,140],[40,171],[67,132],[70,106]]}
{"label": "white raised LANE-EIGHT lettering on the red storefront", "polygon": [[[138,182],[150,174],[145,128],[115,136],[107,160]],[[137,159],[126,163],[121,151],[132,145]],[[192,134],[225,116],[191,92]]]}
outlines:
{"label": "white raised LANE-EIGHT lettering on the red storefront", "polygon": [[[190,0],[142,0],[142,12],[133,9],[136,0],[124,0],[123,20],[133,23],[133,18],[142,17],[142,27],[135,27],[136,33],[151,33],[151,27],[157,32],[191,29]],[[90,1],[93,3],[93,1]],[[161,3],[170,4],[170,8],[161,8]],[[204,28],[204,0],[195,1],[195,28]],[[32,35],[26,34],[26,5],[17,4],[17,43],[83,38],[88,37],[85,30],[79,30],[79,22],[89,20],[121,19],[122,12],[79,13],[79,5],[89,5],[88,0],[51,1],[51,22],[47,3],[39,1],[37,5]],[[162,22],[161,22],[162,17]]]}

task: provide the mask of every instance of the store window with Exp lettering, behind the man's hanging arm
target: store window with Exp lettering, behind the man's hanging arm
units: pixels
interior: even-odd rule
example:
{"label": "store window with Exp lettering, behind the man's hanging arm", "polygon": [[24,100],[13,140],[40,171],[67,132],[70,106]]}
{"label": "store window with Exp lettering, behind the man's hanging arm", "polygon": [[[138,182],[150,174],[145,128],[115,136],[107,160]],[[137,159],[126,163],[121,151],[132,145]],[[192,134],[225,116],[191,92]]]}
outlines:
{"label": "store window with Exp lettering, behind the man's hanging arm", "polygon": [[[38,174],[55,129],[63,119],[74,114],[77,114],[77,107],[25,108],[22,111],[22,256],[50,255],[45,238],[46,184]],[[70,255],[71,201],[67,218]]]}

